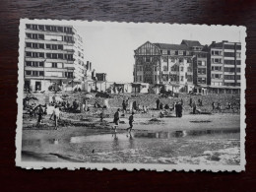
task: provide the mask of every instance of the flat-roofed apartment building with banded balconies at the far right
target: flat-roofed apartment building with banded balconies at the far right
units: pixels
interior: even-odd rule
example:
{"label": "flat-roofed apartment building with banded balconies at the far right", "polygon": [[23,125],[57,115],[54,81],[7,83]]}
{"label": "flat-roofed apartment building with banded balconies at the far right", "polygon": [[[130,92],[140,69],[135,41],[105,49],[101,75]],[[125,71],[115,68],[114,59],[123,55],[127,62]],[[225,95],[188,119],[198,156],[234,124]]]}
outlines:
{"label": "flat-roofed apartment building with banded balconies at the far right", "polygon": [[218,94],[240,92],[241,43],[215,42],[209,46],[208,84],[210,92]]}

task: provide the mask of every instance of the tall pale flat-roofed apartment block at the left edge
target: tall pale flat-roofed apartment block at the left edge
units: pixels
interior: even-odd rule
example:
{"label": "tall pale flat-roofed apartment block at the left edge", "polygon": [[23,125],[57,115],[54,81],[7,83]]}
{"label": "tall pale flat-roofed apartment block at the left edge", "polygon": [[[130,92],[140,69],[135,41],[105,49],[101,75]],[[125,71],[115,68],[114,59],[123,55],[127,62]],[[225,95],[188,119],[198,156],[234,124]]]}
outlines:
{"label": "tall pale flat-roofed apartment block at the left edge", "polygon": [[52,84],[83,81],[83,39],[72,26],[26,25],[25,89],[47,91]]}

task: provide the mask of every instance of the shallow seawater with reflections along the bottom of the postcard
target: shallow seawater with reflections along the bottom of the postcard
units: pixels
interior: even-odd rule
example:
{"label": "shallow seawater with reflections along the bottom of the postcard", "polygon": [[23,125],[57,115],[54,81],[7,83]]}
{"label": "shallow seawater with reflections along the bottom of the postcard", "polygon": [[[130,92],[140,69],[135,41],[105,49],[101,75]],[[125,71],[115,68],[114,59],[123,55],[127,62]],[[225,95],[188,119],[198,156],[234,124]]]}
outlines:
{"label": "shallow seawater with reflections along the bottom of the postcard", "polygon": [[[45,161],[174,163],[178,157],[206,158],[202,155],[205,151],[236,148],[239,148],[239,129],[134,131],[131,134],[125,132],[23,140],[24,152],[35,153],[33,157],[37,156],[37,153],[40,159],[45,157],[44,155],[49,156]],[[58,158],[53,159],[53,155]]]}

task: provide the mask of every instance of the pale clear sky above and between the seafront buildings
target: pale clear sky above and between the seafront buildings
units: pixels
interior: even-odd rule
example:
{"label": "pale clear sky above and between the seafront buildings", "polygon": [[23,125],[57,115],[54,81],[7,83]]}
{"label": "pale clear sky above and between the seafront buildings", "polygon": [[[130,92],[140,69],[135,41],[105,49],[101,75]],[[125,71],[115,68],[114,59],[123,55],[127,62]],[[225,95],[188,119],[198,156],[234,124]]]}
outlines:
{"label": "pale clear sky above and between the seafront buildings", "polygon": [[133,82],[134,50],[146,41],[179,44],[182,39],[243,41],[244,29],[228,26],[83,22],[74,25],[83,37],[85,59],[108,82]]}

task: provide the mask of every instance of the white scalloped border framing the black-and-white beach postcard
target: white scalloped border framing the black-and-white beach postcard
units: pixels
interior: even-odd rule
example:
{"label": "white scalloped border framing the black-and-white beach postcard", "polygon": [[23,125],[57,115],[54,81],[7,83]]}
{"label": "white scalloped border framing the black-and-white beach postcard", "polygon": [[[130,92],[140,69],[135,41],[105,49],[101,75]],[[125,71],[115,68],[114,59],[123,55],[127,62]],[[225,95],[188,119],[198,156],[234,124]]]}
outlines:
{"label": "white scalloped border framing the black-and-white beach postcard", "polygon": [[[28,22],[33,23],[50,23],[59,25],[70,25],[71,22],[76,23],[76,25],[82,25],[86,23],[96,23],[96,24],[130,24],[130,25],[170,25],[170,26],[193,26],[193,27],[221,27],[221,28],[239,28],[240,38],[241,38],[241,96],[240,96],[240,165],[207,165],[207,164],[160,164],[160,163],[91,163],[91,162],[29,162],[21,160],[21,148],[22,148],[22,129],[23,129],[23,87],[24,87],[24,43],[25,43],[25,24]],[[74,24],[73,24],[74,25]],[[19,27],[19,63],[18,63],[18,93],[17,93],[17,104],[18,104],[18,114],[17,114],[17,129],[16,129],[16,166],[20,166],[26,169],[42,169],[42,168],[67,168],[69,170],[75,170],[80,168],[85,169],[118,169],[118,170],[156,170],[156,171],[236,171],[240,172],[245,170],[246,160],[245,160],[245,90],[246,90],[246,78],[245,78],[245,60],[246,60],[246,41],[247,36],[246,27],[243,26],[228,26],[228,25],[192,25],[192,24],[168,24],[168,23],[134,23],[134,22],[101,22],[101,21],[82,21],[82,20],[38,20],[38,19],[20,19]]]}

